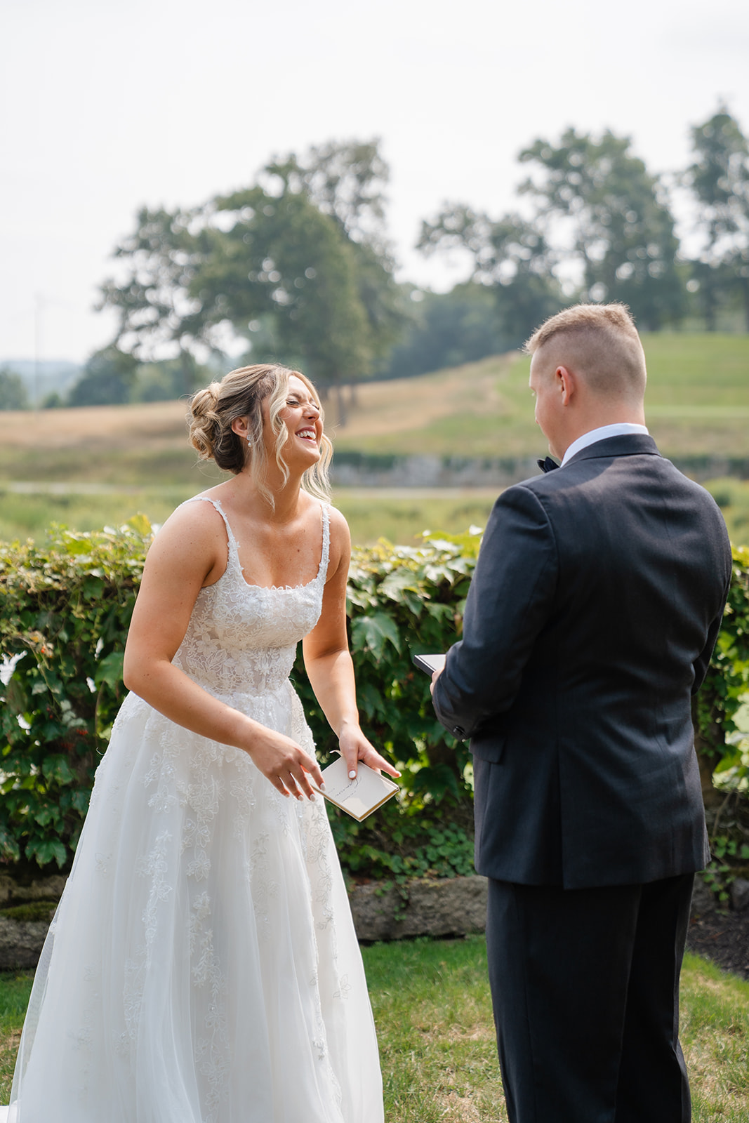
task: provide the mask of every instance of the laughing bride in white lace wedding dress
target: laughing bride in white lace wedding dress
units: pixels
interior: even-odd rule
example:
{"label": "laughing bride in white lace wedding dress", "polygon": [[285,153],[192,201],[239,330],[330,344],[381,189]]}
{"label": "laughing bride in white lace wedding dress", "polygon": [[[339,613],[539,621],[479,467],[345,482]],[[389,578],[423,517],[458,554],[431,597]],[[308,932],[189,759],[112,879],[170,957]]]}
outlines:
{"label": "laughing bride in white lace wedding dress", "polygon": [[37,969],[11,1123],[382,1123],[377,1043],[296,643],[350,774],[346,522],[311,383],[256,365],[194,395],[230,480],[149,550],[130,694]]}

